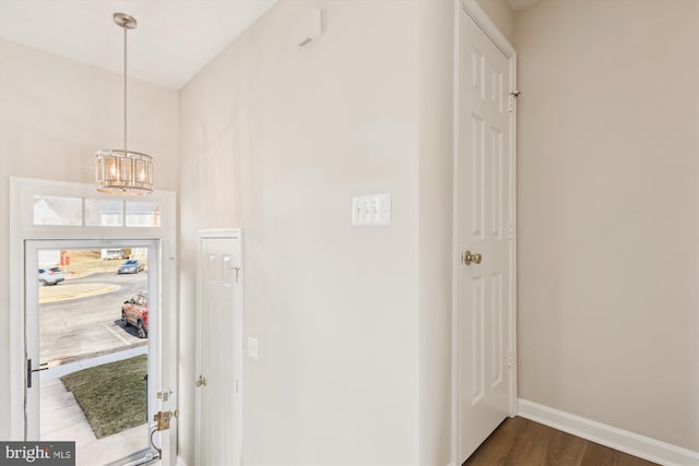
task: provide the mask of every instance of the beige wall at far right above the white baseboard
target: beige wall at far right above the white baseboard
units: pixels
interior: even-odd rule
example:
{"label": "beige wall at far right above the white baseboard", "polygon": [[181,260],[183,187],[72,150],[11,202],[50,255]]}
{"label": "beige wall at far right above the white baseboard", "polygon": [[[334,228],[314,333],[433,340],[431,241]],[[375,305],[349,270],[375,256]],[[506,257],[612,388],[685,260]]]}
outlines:
{"label": "beige wall at far right above the white baseboard", "polygon": [[699,451],[699,2],[516,14],[520,396]]}

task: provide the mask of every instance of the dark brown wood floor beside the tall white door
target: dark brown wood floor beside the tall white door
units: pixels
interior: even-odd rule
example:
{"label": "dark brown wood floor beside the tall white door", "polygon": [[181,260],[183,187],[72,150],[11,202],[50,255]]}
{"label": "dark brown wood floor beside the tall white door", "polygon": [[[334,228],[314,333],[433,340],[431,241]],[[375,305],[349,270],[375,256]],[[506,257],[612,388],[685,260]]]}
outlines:
{"label": "dark brown wood floor beside the tall white door", "polygon": [[531,420],[506,419],[463,466],[650,466],[627,455]]}

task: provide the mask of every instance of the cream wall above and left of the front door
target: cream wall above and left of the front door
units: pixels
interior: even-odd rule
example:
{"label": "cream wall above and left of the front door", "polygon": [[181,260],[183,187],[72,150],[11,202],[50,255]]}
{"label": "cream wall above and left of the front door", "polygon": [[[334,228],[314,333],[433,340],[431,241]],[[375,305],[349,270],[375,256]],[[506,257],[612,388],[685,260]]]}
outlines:
{"label": "cream wall above and left of the front door", "polygon": [[[120,147],[122,76],[0,39],[0,251],[8,256],[9,178],[94,182],[97,148]],[[179,179],[177,93],[133,81],[129,85],[129,141],[154,156],[157,189]],[[9,266],[0,267],[7,290]],[[0,340],[9,342],[10,296],[0,297]],[[0,345],[0,413],[9,413],[9,346]],[[10,419],[0,417],[0,439]]]}

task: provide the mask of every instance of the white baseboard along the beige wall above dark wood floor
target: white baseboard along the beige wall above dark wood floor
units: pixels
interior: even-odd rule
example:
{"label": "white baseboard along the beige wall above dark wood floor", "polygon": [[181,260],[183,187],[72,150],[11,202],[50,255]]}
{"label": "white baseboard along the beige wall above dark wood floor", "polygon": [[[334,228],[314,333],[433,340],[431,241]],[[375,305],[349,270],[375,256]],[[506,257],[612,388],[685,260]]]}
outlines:
{"label": "white baseboard along the beige wall above dark wood floor", "polygon": [[699,466],[699,452],[519,399],[518,416],[664,466]]}

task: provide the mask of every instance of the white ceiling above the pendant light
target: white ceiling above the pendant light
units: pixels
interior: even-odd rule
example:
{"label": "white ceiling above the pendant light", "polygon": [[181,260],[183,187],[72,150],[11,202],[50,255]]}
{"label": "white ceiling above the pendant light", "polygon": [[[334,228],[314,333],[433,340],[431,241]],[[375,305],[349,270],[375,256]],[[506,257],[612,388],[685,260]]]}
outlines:
{"label": "white ceiling above the pendant light", "polygon": [[276,0],[0,0],[0,37],[178,89]]}

